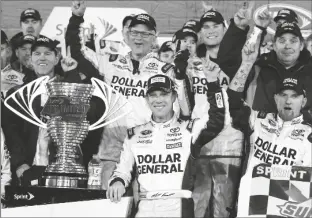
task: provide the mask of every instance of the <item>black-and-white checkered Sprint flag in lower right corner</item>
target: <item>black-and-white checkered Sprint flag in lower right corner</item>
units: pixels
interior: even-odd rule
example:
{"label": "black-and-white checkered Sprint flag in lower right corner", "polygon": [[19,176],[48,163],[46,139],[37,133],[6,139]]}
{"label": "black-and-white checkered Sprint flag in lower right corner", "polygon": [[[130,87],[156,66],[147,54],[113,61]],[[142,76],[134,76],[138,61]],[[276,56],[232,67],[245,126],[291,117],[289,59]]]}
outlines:
{"label": "black-and-white checkered Sprint flag in lower right corner", "polygon": [[312,217],[311,167],[260,164],[250,181],[249,217]]}

